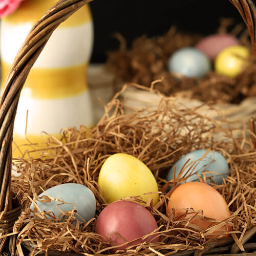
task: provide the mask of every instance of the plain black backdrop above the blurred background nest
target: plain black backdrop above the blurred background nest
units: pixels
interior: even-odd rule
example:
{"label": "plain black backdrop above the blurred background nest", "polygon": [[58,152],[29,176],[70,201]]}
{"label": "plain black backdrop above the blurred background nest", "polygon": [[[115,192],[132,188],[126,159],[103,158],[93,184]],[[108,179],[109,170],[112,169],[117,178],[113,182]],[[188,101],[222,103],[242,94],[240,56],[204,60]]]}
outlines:
{"label": "plain black backdrop above the blurred background nest", "polygon": [[95,0],[90,5],[95,30],[92,62],[103,62],[107,51],[118,48],[114,32],[130,46],[134,38],[162,35],[172,25],[207,35],[216,32],[221,17],[243,22],[228,0]]}

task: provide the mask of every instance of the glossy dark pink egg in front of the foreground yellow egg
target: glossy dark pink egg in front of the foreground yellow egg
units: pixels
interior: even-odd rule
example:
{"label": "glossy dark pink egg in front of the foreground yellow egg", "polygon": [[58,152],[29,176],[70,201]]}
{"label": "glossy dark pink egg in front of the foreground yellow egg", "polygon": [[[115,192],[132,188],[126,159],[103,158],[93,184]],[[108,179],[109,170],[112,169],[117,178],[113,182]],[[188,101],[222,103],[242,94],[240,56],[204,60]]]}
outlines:
{"label": "glossy dark pink egg in front of the foreground yellow egg", "polygon": [[[147,242],[158,242],[159,237],[154,234],[142,240],[143,236],[157,229],[157,222],[151,212],[144,206],[132,201],[116,201],[106,206],[96,221],[95,232],[103,236],[104,241],[113,246],[121,245],[126,241],[133,241],[118,247]],[[124,239],[117,236],[117,233]]]}

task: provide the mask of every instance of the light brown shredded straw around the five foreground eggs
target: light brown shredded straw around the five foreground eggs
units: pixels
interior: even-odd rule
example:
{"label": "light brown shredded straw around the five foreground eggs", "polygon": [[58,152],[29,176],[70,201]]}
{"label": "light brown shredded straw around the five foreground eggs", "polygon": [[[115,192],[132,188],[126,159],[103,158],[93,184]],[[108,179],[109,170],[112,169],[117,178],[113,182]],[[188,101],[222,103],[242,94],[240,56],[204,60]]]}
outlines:
{"label": "light brown shredded straw around the five foreground eggs", "polygon": [[[169,255],[184,250],[201,251],[216,241],[223,241],[209,235],[227,222],[232,227],[229,241],[233,239],[237,248],[243,250],[245,231],[256,224],[255,134],[251,133],[251,139],[246,136],[233,138],[234,130],[224,119],[211,120],[198,114],[198,109],[180,109],[174,98],[163,97],[158,108],[123,114],[123,102],[118,96],[105,106],[105,115],[92,129],[83,126],[79,130],[65,129],[60,140],[49,136],[46,148],[34,145],[35,151],[29,153],[29,159],[14,160],[14,169],[20,176],[12,177],[13,193],[23,207],[14,225],[19,255],[26,249],[32,255],[38,250],[49,255],[51,250],[58,250],[60,254],[70,252],[70,255],[112,253],[113,247],[103,244],[94,229],[100,211],[106,206],[97,184],[99,170],[105,159],[114,153],[131,154],[143,161],[155,175],[160,191],[160,201],[155,207],[146,202],[157,220],[159,228],[154,232],[160,236],[160,242],[144,242],[119,251],[120,254]],[[216,141],[216,133],[222,134],[222,139]],[[230,168],[230,176],[222,185],[213,182],[211,185],[225,198],[231,217],[221,224],[215,222],[206,230],[192,228],[191,217],[177,221],[173,215],[166,214],[168,196],[173,191],[168,191],[168,187],[176,187],[181,182],[177,179],[166,183],[167,171],[181,156],[200,148],[221,152]],[[201,182],[205,181],[205,177],[201,177]],[[30,216],[29,206],[37,195],[62,183],[84,184],[93,191],[97,200],[94,219],[74,226],[74,210],[63,212],[67,216],[64,223],[58,216],[53,222],[49,212],[34,212],[34,217]],[[132,200],[141,201],[140,198]]]}

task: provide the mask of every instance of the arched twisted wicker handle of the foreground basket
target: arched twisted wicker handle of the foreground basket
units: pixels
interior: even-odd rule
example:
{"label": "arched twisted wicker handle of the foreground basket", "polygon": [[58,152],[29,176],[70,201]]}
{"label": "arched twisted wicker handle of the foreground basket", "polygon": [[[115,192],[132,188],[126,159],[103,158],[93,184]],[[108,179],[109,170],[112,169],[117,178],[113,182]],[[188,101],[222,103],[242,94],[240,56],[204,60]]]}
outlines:
{"label": "arched twisted wicker handle of the foreground basket", "polygon": [[[11,160],[13,124],[20,92],[34,62],[53,31],[83,5],[93,0],[60,0],[35,24],[18,51],[6,80],[0,104],[0,219],[11,212]],[[252,0],[229,0],[242,15],[251,36],[254,54],[256,11]],[[1,227],[0,227],[1,228]],[[0,252],[6,238],[0,240]]]}

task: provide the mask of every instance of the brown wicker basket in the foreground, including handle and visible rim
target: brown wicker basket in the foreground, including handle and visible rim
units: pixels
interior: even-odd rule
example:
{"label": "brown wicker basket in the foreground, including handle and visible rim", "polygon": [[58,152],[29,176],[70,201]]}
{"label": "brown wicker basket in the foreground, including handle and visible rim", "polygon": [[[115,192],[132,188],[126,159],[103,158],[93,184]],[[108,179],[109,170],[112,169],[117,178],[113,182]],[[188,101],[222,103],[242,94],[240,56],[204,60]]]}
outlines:
{"label": "brown wicker basket in the foreground, including handle and visible rim", "polygon": [[[17,202],[13,199],[11,190],[12,133],[20,91],[23,88],[23,85],[30,72],[31,67],[33,66],[42,49],[47,44],[47,41],[53,31],[61,22],[66,20],[83,5],[91,1],[92,0],[60,0],[48,12],[46,12],[46,14],[37,22],[37,24],[30,31],[22,48],[19,50],[12,65],[11,71],[8,75],[0,109],[0,228],[2,232],[2,238],[0,240],[1,253],[3,252],[7,240],[9,240],[9,252],[11,253],[11,255],[15,254],[16,236],[11,236],[11,234],[9,234],[8,236],[3,236],[3,234],[11,233],[12,227],[21,212],[21,207],[17,205]],[[247,20],[249,28],[252,28],[252,25],[254,24],[254,22],[256,22],[256,17],[248,16],[248,14],[250,13],[249,10],[251,10],[250,8],[252,8],[252,6],[250,6],[250,1],[233,0],[231,2],[239,9],[242,16]],[[250,30],[250,32],[254,40],[254,30]],[[255,244],[245,245],[246,242],[252,236],[254,236],[255,233],[256,226],[254,226],[250,230],[247,230],[245,236],[241,241],[241,243],[244,245],[244,248],[248,247],[256,249]],[[29,246],[25,245],[25,247],[29,249]],[[214,249],[214,247],[220,248],[217,250]],[[208,253],[221,253],[224,251],[230,251],[230,255],[237,255],[236,253],[240,251],[237,244],[234,244],[232,238],[223,239],[217,243],[211,244],[210,247],[207,248],[207,250],[209,250]],[[204,252],[205,251],[183,251],[176,253],[176,255],[202,255]],[[48,252],[48,255],[63,254],[78,255],[76,253],[63,253],[57,251]],[[254,254],[247,253],[246,255]]]}

